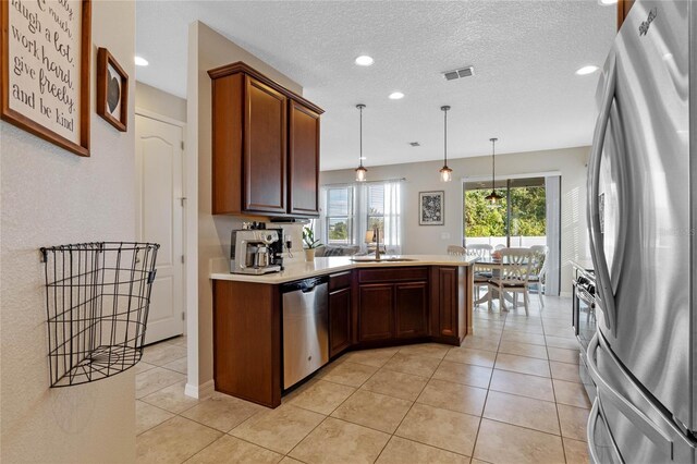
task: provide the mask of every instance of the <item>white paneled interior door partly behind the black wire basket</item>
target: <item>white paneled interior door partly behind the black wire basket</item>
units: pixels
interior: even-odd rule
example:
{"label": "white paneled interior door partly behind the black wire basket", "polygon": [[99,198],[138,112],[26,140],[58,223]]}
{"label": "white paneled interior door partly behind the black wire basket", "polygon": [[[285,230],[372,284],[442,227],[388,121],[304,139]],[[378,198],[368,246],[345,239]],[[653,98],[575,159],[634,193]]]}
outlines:
{"label": "white paneled interior door partly behind the black wire basket", "polygon": [[135,118],[138,234],[160,244],[145,343],[184,333],[183,129]]}

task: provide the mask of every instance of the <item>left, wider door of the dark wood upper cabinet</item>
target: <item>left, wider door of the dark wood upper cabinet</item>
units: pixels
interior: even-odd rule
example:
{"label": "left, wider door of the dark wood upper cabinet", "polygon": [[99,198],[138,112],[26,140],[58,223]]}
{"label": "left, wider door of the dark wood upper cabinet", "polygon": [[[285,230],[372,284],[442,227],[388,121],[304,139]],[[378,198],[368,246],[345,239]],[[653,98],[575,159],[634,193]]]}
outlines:
{"label": "left, wider door of the dark wood upper cabinet", "polygon": [[245,76],[244,209],[285,212],[288,98]]}

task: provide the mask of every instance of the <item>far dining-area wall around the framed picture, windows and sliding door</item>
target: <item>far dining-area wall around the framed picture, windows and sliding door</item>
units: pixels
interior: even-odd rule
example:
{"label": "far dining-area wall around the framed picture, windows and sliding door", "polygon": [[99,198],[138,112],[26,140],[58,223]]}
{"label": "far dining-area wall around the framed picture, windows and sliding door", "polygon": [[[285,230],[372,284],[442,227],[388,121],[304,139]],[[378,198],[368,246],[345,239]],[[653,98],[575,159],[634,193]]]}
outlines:
{"label": "far dining-area wall around the framed picture, windows and sliding door", "polygon": [[[562,175],[562,244],[561,291],[571,292],[570,259],[588,259],[586,232],[586,161],[590,148],[530,151],[497,155],[497,178],[515,174],[559,171]],[[406,178],[404,182],[404,241],[405,254],[442,254],[448,245],[461,244],[463,178],[491,175],[491,156],[448,160],[453,169],[453,182],[441,183],[442,162],[416,162],[368,168],[368,180]],[[352,169],[322,171],[321,184],[353,182]],[[444,191],[445,224],[418,224],[418,193]]]}

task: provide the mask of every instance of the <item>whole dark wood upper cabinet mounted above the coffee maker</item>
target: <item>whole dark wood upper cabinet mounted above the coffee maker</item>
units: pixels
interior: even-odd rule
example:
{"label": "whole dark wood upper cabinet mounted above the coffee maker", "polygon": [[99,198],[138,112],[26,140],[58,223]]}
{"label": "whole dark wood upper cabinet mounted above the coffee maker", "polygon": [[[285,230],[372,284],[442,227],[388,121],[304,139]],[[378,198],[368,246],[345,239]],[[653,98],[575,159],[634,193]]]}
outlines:
{"label": "whole dark wood upper cabinet mounted above the coffee maker", "polygon": [[212,213],[317,216],[322,109],[242,62],[208,74]]}

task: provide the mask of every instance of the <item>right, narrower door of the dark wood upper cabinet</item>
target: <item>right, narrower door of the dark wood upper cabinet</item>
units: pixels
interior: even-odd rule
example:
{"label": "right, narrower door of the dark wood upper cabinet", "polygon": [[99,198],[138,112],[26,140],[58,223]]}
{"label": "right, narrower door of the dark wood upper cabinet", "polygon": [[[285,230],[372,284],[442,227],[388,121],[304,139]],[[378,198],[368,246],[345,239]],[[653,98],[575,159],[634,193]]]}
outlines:
{"label": "right, narrower door of the dark wood upper cabinet", "polygon": [[289,204],[290,213],[319,213],[319,114],[290,100]]}

